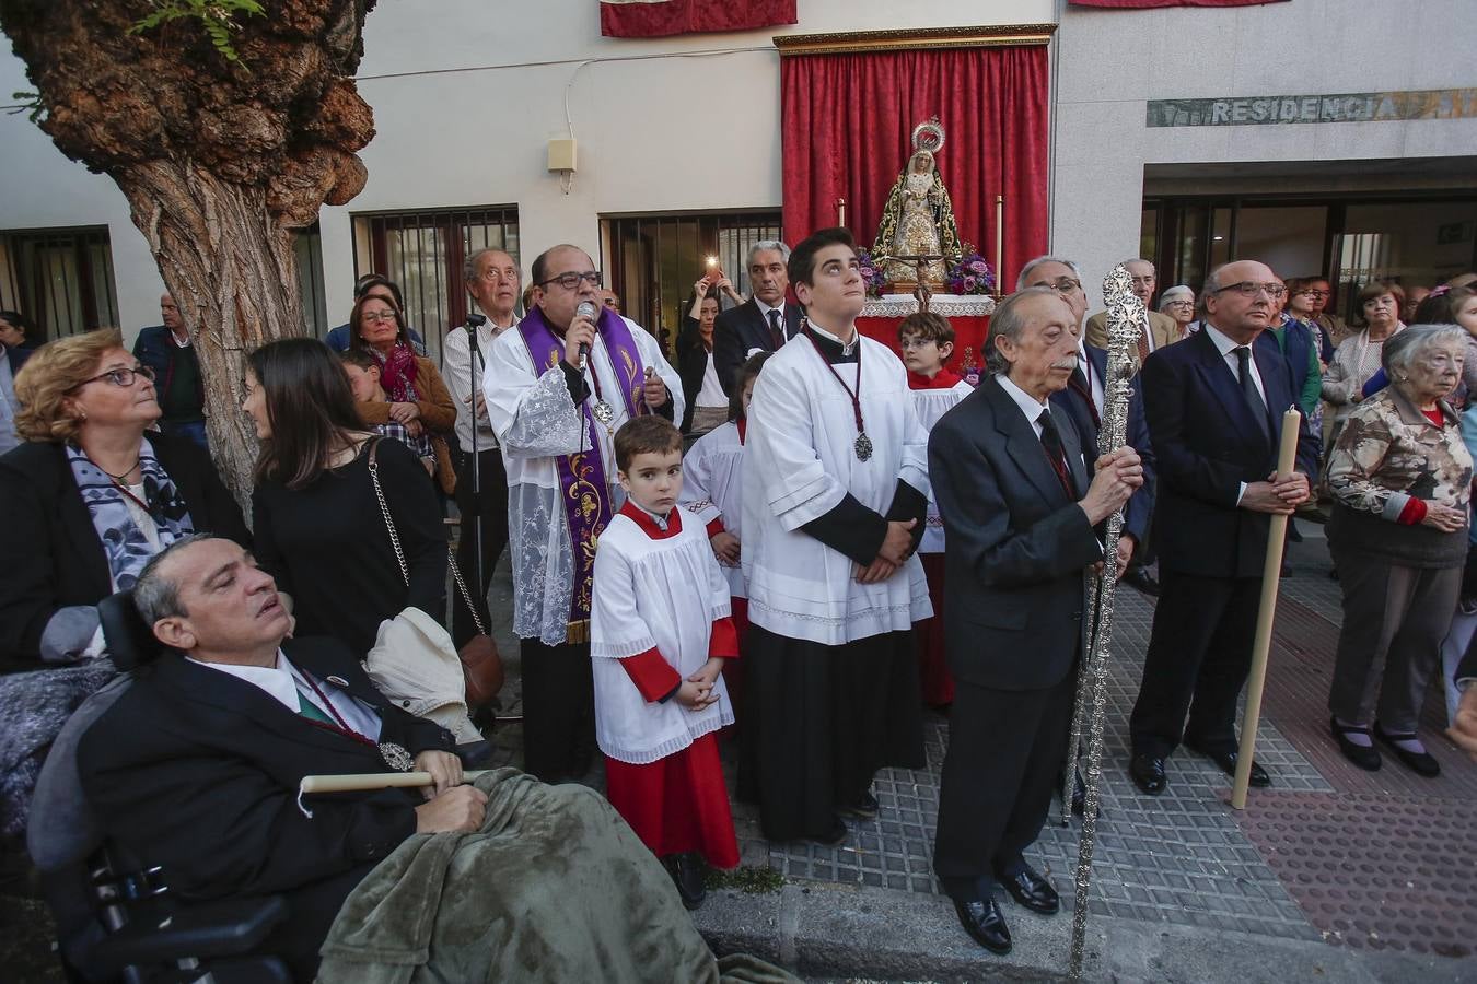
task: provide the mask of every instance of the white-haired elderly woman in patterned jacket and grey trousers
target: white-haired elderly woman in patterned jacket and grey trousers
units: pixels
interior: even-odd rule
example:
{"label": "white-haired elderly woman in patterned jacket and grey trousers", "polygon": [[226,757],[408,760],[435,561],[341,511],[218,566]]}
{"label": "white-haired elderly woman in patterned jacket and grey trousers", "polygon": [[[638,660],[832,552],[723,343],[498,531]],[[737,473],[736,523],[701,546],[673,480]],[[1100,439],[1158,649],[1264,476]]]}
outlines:
{"label": "white-haired elderly woman in patterned jacket and grey trousers", "polygon": [[1381,351],[1391,385],[1349,415],[1329,454],[1344,624],[1328,707],[1360,769],[1380,769],[1378,738],[1413,772],[1440,773],[1415,729],[1467,561],[1473,459],[1446,401],[1465,354],[1456,325],[1393,336]]}

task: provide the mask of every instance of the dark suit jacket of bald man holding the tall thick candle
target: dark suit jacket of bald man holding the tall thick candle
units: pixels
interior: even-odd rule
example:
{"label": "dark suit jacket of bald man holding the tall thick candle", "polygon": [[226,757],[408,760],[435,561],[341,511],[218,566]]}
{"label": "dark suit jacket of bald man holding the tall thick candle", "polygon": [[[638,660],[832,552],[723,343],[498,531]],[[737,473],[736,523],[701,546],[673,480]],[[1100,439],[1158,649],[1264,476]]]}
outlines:
{"label": "dark suit jacket of bald man holding the tall thick candle", "polygon": [[[1266,388],[1263,434],[1241,384],[1210,333],[1155,350],[1143,363],[1143,404],[1158,474],[1154,512],[1159,565],[1198,577],[1261,577],[1270,513],[1236,506],[1241,482],[1276,468],[1282,413],[1297,406],[1292,373],[1276,345],[1251,347]],[[1298,435],[1297,471],[1317,474],[1317,441]]]}

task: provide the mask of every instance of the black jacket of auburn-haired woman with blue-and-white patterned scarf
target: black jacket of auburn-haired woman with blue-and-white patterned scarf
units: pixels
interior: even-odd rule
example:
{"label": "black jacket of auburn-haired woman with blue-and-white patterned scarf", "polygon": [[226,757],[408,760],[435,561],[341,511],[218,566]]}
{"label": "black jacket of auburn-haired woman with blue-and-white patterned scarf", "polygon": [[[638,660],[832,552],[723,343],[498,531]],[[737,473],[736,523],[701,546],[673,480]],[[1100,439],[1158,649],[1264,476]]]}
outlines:
{"label": "black jacket of auburn-haired woman with blue-and-white patterned scarf", "polygon": [[[149,432],[191,519],[248,546],[241,506],[193,441]],[[41,633],[58,608],[112,595],[108,558],[61,444],[28,443],[0,457],[0,673],[40,670]]]}

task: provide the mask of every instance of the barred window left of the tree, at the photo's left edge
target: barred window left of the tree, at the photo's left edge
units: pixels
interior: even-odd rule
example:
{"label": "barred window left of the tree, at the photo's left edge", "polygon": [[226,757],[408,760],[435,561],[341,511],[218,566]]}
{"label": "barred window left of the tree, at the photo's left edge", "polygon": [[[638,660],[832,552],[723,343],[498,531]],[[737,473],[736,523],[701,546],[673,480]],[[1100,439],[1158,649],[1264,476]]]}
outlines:
{"label": "barred window left of the tree, at the photo's left edge", "polygon": [[0,232],[0,308],[30,316],[37,342],[120,326],[108,229]]}

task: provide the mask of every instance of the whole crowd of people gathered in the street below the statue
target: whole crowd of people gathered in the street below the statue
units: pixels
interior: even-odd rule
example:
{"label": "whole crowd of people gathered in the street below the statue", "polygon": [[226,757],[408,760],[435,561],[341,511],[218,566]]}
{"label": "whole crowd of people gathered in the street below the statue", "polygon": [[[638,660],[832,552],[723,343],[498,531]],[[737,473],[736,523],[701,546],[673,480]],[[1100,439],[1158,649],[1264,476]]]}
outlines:
{"label": "whole crowd of people gathered in the street below the statue", "polygon": [[[99,602],[133,592],[173,655],[89,732],[84,788],[182,895],[289,893],[312,918],[273,943],[303,975],[409,835],[486,832],[493,814],[536,826],[498,805],[508,776],[461,785],[452,735],[357,665],[411,609],[465,643],[504,550],[523,769],[554,786],[598,754],[609,807],[527,803],[576,826],[613,807],[644,847],[589,850],[659,859],[687,907],[709,866],[738,863],[722,741],[767,838],[835,845],[886,810],[880,769],[923,766],[935,708],[948,748],[933,866],[963,929],[1010,950],[997,888],[1058,912],[1025,854],[1071,777],[1084,586],[1118,510],[1115,569],[1158,596],[1125,763],[1143,794],[1165,789],[1182,746],[1236,772],[1273,515],[1326,512],[1344,596],[1329,741],[1362,769],[1384,748],[1437,775],[1419,711],[1439,676],[1452,736],[1477,755],[1477,689],[1461,690],[1477,677],[1477,274],[1406,316],[1399,285],[1369,283],[1351,329],[1322,277],[1242,260],[1198,295],[1161,294],[1151,263],[1124,266],[1145,305],[1124,447],[1100,441],[1106,317],[1089,317],[1063,257],[1021,268],[978,385],[951,366],[938,313],[886,341],[858,330],[867,292],[843,229],[755,243],[749,298],[712,268],[671,361],[573,245],[538,255],[527,285],[507,251],[471,252],[480,314],[446,333],[440,366],[399,286],[363,277],[326,344],[247,357],[250,531],[204,450],[205,381],[170,295],[131,351],[111,329],[30,350],[31,326],[0,311],[15,446],[0,456],[0,690],[55,735],[96,689]],[[1297,463],[1279,474],[1289,406]],[[452,599],[449,568],[470,584]],[[43,738],[6,749],[31,763],[10,797],[44,758],[47,727],[31,730]],[[168,749],[185,746],[180,764]],[[313,772],[408,766],[433,776],[424,801],[377,789],[309,810],[295,792]],[[1251,763],[1251,785],[1275,783]],[[241,820],[207,816],[232,797]],[[524,844],[552,850],[539,836]]]}

